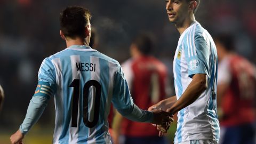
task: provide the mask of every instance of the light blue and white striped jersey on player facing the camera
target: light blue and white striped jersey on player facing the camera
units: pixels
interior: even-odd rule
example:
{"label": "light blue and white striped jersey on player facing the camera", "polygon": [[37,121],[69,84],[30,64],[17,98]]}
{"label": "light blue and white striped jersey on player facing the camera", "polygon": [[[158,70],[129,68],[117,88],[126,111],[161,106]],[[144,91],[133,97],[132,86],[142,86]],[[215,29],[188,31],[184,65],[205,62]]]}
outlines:
{"label": "light blue and white striped jersey on player facing the camera", "polygon": [[194,74],[208,77],[207,89],[178,113],[174,143],[212,139],[219,140],[217,116],[217,51],[210,34],[197,21],[180,36],[173,61],[177,100],[185,92]]}

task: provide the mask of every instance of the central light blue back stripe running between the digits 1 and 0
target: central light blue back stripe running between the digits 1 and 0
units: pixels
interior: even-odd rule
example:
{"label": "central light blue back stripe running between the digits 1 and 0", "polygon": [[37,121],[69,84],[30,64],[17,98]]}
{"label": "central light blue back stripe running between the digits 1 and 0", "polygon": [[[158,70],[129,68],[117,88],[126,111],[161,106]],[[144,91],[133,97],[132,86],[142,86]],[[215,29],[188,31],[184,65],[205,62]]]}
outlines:
{"label": "central light blue back stripe running between the digits 1 and 0", "polygon": [[[84,62],[84,63],[90,63],[90,57],[89,57],[89,52],[81,52],[80,54],[80,62]],[[84,120],[83,120],[83,100],[84,100],[84,84],[88,81],[91,80],[91,72],[90,71],[81,71],[81,77],[80,77],[80,83],[82,84],[80,87],[80,95],[79,95],[79,111],[80,111],[80,118],[79,118],[79,125],[77,125],[79,128],[79,133],[78,133],[78,142],[77,144],[86,144],[87,143],[87,139],[88,139],[88,134],[89,134],[89,127],[86,127],[84,124]],[[90,101],[90,100],[88,100]],[[87,103],[85,105],[88,105]]]}

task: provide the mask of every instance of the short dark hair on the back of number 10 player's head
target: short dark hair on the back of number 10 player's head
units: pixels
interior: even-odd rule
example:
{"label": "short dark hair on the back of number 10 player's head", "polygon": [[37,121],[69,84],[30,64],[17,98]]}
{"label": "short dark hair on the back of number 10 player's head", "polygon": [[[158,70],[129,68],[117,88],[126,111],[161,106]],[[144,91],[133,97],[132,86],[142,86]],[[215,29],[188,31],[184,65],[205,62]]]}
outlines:
{"label": "short dark hair on the back of number 10 player's head", "polygon": [[85,26],[91,19],[89,10],[81,6],[69,6],[60,13],[60,29],[70,38],[84,38]]}

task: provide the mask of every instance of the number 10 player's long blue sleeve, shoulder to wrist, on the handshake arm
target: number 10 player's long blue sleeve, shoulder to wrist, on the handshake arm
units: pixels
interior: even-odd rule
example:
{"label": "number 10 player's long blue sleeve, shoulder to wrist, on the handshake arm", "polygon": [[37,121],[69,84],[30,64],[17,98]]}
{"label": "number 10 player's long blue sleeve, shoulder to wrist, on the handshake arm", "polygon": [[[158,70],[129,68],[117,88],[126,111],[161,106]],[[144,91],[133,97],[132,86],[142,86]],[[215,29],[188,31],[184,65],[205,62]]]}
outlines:
{"label": "number 10 player's long blue sleeve, shoulder to wrist, on the handshake arm", "polygon": [[119,64],[114,78],[112,103],[121,115],[132,121],[153,122],[153,113],[142,110],[133,103],[128,84]]}

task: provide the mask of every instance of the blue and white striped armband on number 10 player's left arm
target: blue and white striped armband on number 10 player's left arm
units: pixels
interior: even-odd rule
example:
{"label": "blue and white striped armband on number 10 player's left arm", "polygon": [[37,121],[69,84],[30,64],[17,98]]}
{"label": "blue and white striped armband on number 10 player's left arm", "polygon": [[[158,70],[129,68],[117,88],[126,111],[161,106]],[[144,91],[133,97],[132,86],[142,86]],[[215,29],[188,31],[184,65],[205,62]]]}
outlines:
{"label": "blue and white striped armband on number 10 player's left arm", "polygon": [[50,99],[51,96],[53,95],[53,90],[51,89],[51,84],[48,82],[39,81],[36,86],[36,91],[35,91],[35,94],[33,95],[33,97],[38,96],[38,95]]}

